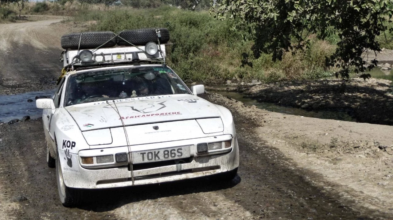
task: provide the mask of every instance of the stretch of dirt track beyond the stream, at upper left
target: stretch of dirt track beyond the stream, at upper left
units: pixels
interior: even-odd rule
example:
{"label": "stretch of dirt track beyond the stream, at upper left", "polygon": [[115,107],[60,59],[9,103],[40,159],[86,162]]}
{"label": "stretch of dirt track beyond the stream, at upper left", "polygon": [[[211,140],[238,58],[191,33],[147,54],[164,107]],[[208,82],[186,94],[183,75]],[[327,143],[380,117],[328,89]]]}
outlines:
{"label": "stretch of dirt track beyond the stream, at upper left", "polygon": [[61,20],[0,24],[0,95],[55,86],[62,68],[60,37],[67,29],[53,23]]}

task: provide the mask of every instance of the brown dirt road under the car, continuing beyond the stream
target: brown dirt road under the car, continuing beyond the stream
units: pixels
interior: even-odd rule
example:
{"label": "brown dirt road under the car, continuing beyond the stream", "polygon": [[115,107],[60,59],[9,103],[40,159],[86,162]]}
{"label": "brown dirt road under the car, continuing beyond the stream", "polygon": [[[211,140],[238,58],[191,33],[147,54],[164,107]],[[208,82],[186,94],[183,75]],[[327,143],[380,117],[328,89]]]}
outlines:
{"label": "brown dirt road under the car, continuing beyond the stream", "polygon": [[[20,35],[37,29],[53,33],[48,35],[51,40],[38,34],[35,40],[28,41],[44,42],[45,47],[17,44],[11,37],[2,41],[3,47],[12,47],[7,55],[19,56],[25,64],[14,71],[15,65],[1,56],[2,67],[8,72],[0,70],[2,78],[7,77],[2,80],[0,94],[53,87],[48,78],[56,78],[61,68],[57,56],[51,55],[60,51],[59,43],[53,39],[60,38],[59,29],[67,29],[67,24],[50,25],[57,21],[18,26]],[[0,29],[12,32],[16,28],[0,24]],[[40,56],[14,53],[26,48]],[[36,72],[26,74],[31,67]],[[42,67],[48,68],[44,76],[40,75]],[[26,83],[28,80],[31,82]],[[41,121],[0,124],[0,219],[393,218],[389,174],[393,162],[387,152],[375,149],[392,142],[391,126],[336,124],[334,120],[246,107],[214,94],[205,98],[227,106],[235,118],[241,159],[239,175],[231,182],[209,178],[89,191],[84,206],[66,208],[58,198],[55,169],[46,166]],[[365,126],[369,132],[360,132]],[[331,137],[339,137],[332,148]],[[315,139],[320,143],[314,144],[316,149]],[[358,139],[375,142],[371,146]]]}

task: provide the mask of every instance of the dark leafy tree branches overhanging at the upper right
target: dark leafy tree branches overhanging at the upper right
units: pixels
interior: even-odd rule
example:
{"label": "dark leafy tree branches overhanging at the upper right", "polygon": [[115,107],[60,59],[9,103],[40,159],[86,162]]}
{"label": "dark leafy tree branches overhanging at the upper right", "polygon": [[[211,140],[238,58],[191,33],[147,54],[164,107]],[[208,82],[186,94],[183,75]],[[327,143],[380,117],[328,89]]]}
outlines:
{"label": "dark leafy tree branches overhanging at the upper right", "polygon": [[[249,25],[255,34],[255,55],[272,53],[274,60],[307,47],[309,34],[321,40],[338,34],[337,49],[326,65],[342,67],[341,76],[349,77],[351,66],[356,72],[366,69],[362,53],[380,51],[375,37],[387,31],[392,10],[392,0],[216,0],[210,13]],[[371,62],[369,69],[377,61]]]}

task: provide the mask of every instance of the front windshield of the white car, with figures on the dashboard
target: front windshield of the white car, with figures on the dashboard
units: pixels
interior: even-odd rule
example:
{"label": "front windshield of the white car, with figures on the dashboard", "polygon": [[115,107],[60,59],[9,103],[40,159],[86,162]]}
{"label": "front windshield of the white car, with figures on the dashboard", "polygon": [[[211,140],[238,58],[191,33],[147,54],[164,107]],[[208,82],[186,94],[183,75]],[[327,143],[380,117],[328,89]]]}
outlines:
{"label": "front windshield of the white car, with figures on the dashboard", "polygon": [[190,94],[167,67],[130,67],[92,70],[69,77],[65,106],[93,101]]}

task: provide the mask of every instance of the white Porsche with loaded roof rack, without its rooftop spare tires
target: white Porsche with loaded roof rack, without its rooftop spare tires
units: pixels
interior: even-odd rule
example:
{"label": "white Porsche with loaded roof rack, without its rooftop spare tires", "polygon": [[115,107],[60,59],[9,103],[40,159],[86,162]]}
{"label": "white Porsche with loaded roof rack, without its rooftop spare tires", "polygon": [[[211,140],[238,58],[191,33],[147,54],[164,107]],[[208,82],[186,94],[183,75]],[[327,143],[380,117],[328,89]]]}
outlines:
{"label": "white Porsche with loaded roof rack, without its rooftop spare tires", "polygon": [[157,41],[63,52],[57,90],[37,99],[37,108],[44,109],[46,159],[56,167],[64,206],[79,204],[80,189],[235,177],[239,148],[230,111],[196,96],[203,85],[190,90],[158,63],[165,45]]}

